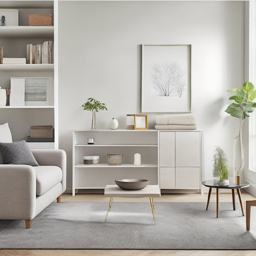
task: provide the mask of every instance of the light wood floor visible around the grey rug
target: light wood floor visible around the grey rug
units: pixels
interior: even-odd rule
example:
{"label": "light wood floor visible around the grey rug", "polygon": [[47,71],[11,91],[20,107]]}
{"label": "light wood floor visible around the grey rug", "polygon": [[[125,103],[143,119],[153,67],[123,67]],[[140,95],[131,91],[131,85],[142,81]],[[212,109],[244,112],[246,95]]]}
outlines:
{"label": "light wood floor visible around the grey rug", "polygon": [[[214,192],[214,191],[213,191]],[[155,202],[207,202],[208,194],[162,194],[155,197]],[[242,191],[242,199],[255,200],[256,197]],[[116,202],[127,201],[148,201],[148,198],[118,198]],[[214,193],[211,195],[211,202],[216,202]],[[232,202],[231,193],[221,193],[220,202]],[[109,197],[103,194],[64,194],[61,202],[109,202]],[[239,202],[236,195],[236,202]],[[244,205],[245,210],[245,205]],[[244,218],[245,222],[245,218]],[[33,228],[33,227],[31,227]],[[235,243],[235,241],[234,241]],[[0,256],[256,256],[256,250],[0,250]]]}

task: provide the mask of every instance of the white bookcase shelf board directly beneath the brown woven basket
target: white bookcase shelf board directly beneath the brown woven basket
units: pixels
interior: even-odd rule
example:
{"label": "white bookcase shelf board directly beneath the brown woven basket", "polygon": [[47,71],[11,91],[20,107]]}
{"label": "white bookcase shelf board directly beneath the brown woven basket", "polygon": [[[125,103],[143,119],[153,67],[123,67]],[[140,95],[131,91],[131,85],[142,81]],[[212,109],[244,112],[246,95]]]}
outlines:
{"label": "white bookcase shelf board directly beneath the brown woven basket", "polygon": [[53,38],[53,26],[0,26],[2,38]]}

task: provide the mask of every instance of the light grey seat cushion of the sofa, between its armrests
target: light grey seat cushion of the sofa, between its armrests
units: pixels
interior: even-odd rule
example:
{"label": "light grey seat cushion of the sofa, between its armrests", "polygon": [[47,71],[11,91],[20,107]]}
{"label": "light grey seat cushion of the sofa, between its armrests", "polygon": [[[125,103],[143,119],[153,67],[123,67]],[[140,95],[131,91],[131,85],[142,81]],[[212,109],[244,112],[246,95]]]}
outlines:
{"label": "light grey seat cushion of the sofa, between its armrests", "polygon": [[58,166],[35,166],[37,195],[43,195],[62,181],[62,171]]}

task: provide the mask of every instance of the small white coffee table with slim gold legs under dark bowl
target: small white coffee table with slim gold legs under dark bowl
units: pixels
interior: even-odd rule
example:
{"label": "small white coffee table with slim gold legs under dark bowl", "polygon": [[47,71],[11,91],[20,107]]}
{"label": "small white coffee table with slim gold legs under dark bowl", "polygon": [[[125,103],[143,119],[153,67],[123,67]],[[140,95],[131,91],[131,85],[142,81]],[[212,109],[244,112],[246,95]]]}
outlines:
{"label": "small white coffee table with slim gold legs under dark bowl", "polygon": [[114,196],[117,196],[117,197],[149,197],[154,222],[156,224],[155,206],[154,206],[154,198],[153,197],[161,196],[160,189],[159,189],[158,185],[146,185],[145,188],[140,189],[140,190],[124,190],[124,189],[120,188],[118,185],[107,185],[105,187],[104,195],[110,196],[110,205],[109,205],[109,210],[107,212],[105,222],[107,221],[107,217],[108,217]]}

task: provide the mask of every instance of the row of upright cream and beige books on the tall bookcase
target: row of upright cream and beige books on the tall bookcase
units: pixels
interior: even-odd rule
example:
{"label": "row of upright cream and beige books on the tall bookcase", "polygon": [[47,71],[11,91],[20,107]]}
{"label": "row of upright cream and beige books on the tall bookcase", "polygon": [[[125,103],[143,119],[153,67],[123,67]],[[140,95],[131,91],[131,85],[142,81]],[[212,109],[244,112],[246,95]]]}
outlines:
{"label": "row of upright cream and beige books on the tall bookcase", "polygon": [[26,45],[27,64],[53,64],[53,41]]}

